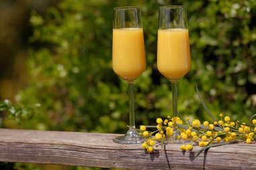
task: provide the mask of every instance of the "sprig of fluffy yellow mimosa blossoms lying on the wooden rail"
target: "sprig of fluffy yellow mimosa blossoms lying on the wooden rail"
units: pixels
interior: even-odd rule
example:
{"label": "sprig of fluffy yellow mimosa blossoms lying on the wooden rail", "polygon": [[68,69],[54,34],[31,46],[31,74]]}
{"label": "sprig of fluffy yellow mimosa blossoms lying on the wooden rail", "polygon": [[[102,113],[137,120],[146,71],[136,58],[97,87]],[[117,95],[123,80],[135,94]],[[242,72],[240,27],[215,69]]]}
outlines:
{"label": "sprig of fluffy yellow mimosa blossoms lying on the wooden rail", "polygon": [[[196,88],[198,91],[198,88]],[[200,93],[198,92],[200,96]],[[202,97],[200,100],[206,108]],[[206,111],[210,116],[212,114],[206,108]],[[144,143],[142,147],[148,151],[148,153],[154,152],[155,141],[161,141],[162,149],[163,142],[171,140],[171,137],[175,135],[174,129],[178,129],[179,134],[177,139],[181,141],[187,141],[186,145],[181,145],[180,149],[182,151],[191,151],[193,145],[199,145],[202,147],[196,157],[210,147],[218,147],[220,145],[228,145],[231,143],[236,143],[238,140],[243,140],[246,143],[251,143],[256,138],[256,119],[253,119],[256,114],[254,114],[249,120],[249,124],[241,123],[239,120],[232,121],[229,116],[223,116],[219,114],[220,118],[217,121],[214,116],[212,116],[213,121],[210,123],[208,121],[200,122],[198,119],[189,120],[186,118],[185,122],[187,125],[183,124],[183,121],[179,117],[167,116],[165,120],[162,118],[157,118],[156,131],[146,131],[147,128],[152,128],[154,126],[140,126],[138,130],[139,134],[144,138]]]}

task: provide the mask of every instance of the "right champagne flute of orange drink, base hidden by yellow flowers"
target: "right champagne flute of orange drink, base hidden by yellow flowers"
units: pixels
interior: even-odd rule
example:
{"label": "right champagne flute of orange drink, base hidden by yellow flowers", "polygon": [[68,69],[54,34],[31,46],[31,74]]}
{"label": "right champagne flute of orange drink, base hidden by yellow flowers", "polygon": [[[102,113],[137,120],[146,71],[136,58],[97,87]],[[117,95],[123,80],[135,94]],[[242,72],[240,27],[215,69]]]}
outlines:
{"label": "right champagne flute of orange drink, base hidden by yellow flowers", "polygon": [[[187,13],[183,6],[159,8],[159,29],[157,37],[157,69],[171,81],[173,93],[173,117],[177,112],[177,82],[190,70],[189,35]],[[175,120],[175,119],[174,119]],[[174,121],[171,143],[179,143]]]}

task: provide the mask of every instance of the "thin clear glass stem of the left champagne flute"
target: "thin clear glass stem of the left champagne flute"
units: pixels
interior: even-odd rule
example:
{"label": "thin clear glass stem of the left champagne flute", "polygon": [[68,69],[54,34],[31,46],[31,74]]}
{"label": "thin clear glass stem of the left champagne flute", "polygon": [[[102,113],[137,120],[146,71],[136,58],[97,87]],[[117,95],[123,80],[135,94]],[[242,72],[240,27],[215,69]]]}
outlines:
{"label": "thin clear glass stem of the left champagne flute", "polygon": [[128,83],[130,129],[135,129],[133,83]]}

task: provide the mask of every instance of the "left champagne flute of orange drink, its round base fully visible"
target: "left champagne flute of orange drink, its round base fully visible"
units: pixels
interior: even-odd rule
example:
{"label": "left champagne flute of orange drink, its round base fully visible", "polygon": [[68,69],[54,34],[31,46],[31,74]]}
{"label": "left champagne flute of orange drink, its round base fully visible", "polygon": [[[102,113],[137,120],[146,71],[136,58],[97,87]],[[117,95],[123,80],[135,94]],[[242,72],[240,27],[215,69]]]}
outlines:
{"label": "left champagne flute of orange drink, its round base fully visible", "polygon": [[143,139],[135,130],[133,82],[146,69],[144,37],[141,11],[138,7],[114,8],[113,70],[128,82],[129,93],[129,130],[126,135],[113,139],[115,143],[142,143]]}

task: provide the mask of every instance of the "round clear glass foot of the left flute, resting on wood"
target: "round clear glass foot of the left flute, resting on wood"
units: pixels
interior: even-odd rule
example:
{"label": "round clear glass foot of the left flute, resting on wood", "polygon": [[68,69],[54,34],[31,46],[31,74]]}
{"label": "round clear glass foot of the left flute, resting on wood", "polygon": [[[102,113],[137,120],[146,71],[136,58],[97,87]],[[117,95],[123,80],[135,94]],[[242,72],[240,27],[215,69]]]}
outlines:
{"label": "round clear glass foot of the left flute, resting on wood", "polygon": [[113,139],[114,143],[120,143],[120,144],[134,144],[134,143],[144,143],[144,139],[138,135],[138,132],[129,129],[127,131],[126,135],[121,136],[121,137],[116,137]]}

